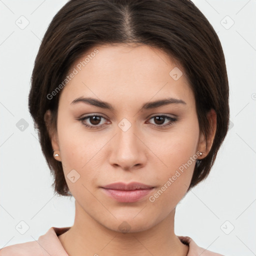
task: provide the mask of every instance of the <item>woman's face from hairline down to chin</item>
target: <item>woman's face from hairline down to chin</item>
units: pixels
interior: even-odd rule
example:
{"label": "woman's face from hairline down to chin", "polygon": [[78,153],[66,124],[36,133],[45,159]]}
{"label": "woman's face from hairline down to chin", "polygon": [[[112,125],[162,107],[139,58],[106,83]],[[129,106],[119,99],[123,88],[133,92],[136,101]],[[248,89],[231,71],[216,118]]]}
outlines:
{"label": "woman's face from hairline down to chin", "polygon": [[[112,230],[123,221],[130,231],[156,225],[185,195],[198,150],[205,151],[182,67],[156,48],[115,44],[91,48],[71,72],[52,147],[79,210]],[[153,188],[140,197],[130,191],[125,201],[102,188],[115,182]]]}

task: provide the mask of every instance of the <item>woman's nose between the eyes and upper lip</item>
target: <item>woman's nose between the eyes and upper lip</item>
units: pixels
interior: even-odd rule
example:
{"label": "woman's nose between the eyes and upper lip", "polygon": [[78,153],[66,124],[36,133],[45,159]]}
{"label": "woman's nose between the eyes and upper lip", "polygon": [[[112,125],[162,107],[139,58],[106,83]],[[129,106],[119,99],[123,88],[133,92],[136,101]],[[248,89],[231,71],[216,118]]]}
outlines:
{"label": "woman's nose between the eyes and upper lip", "polygon": [[111,142],[110,164],[124,170],[141,168],[146,163],[147,155],[143,136],[138,132],[134,123],[126,131],[120,127],[117,126],[117,134]]}

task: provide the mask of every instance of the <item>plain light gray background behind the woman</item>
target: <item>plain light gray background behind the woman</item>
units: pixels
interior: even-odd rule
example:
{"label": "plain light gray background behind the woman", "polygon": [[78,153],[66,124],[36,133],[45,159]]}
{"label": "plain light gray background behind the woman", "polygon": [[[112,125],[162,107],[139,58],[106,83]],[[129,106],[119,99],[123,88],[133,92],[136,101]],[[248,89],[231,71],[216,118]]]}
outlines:
{"label": "plain light gray background behind the woman", "polygon": [[[53,196],[27,107],[40,40],[65,2],[0,0],[0,248],[73,224],[74,200]],[[230,126],[209,176],[178,204],[175,233],[224,255],[256,255],[256,1],[194,3],[224,50]],[[16,126],[21,118],[28,123],[23,131]],[[25,228],[20,221],[29,226],[24,234],[15,228]]]}

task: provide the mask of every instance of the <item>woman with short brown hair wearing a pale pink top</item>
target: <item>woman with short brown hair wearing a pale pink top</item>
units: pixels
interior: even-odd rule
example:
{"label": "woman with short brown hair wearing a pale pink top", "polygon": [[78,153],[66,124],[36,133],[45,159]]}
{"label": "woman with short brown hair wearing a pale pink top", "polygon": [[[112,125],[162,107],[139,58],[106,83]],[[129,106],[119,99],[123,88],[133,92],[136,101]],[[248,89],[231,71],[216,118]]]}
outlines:
{"label": "woman with short brown hair wearing a pale pink top", "polygon": [[36,56],[29,111],[74,224],[0,255],[221,255],[174,233],[229,120],[222,47],[191,1],[68,1]]}

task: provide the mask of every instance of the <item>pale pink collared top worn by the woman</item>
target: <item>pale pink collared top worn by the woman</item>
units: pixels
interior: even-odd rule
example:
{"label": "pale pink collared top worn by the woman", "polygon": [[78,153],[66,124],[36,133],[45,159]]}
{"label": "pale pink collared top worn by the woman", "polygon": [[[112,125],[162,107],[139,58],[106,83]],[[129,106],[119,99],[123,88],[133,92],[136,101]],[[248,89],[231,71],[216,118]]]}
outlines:
{"label": "pale pink collared top worn by the woman", "polygon": [[[52,226],[37,241],[29,241],[6,246],[0,249],[0,256],[68,256],[58,235],[67,231],[69,227]],[[223,256],[199,247],[189,236],[178,236],[180,241],[189,246],[187,256]]]}

